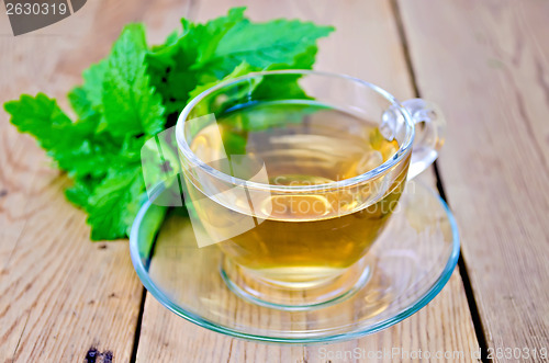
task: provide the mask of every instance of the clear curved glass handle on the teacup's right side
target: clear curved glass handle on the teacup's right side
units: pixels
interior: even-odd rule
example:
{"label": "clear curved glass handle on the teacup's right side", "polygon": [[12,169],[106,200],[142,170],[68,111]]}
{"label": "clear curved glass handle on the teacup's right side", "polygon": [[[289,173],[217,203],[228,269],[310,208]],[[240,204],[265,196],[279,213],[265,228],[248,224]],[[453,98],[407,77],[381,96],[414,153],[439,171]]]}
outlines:
{"label": "clear curved glass handle on the teacup's right side", "polygon": [[402,102],[415,124],[415,139],[412,147],[407,180],[427,169],[438,157],[445,141],[446,120],[433,102],[411,99]]}

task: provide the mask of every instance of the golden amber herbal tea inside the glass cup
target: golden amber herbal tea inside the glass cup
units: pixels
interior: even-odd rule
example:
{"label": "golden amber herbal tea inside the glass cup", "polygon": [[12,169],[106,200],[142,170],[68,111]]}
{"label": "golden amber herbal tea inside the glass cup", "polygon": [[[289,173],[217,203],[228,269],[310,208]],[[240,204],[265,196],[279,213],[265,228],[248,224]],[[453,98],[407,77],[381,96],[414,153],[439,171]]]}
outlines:
{"label": "golden amber herbal tea inside the glass cup", "polygon": [[[251,166],[262,167],[265,182],[273,186],[347,180],[379,167],[399,149],[377,124],[312,101],[227,112],[190,144],[200,159],[236,178],[246,180],[256,171],[249,169],[258,169]],[[236,170],[220,161],[238,155],[246,155],[249,168]],[[232,261],[264,280],[298,286],[336,276],[365,256],[396,206],[407,165],[347,188],[267,192],[251,207],[249,193],[222,201],[187,183],[208,234],[229,236],[217,246]],[[237,230],[250,219],[253,228]]]}

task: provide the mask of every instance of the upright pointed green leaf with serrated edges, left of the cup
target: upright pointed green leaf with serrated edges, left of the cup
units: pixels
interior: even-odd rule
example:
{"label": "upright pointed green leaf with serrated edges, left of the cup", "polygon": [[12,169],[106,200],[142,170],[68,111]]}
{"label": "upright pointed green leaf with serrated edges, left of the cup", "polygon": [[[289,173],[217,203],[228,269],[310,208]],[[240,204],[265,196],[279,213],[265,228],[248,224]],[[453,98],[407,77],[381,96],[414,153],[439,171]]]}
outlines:
{"label": "upright pointed green leaf with serrated edges, left of the cup", "polygon": [[164,129],[161,98],[149,84],[145,29],[124,27],[109,57],[102,103],[105,129],[115,137],[155,135]]}

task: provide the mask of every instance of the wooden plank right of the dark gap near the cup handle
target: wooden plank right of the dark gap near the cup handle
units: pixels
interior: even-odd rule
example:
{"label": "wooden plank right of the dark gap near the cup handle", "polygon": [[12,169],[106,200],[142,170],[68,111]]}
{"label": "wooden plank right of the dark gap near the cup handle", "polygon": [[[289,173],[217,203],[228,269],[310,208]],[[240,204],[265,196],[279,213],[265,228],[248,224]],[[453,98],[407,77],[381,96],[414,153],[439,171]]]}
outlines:
{"label": "wooden plank right of the dark gap near the cup handle", "polygon": [[400,5],[419,90],[449,120],[440,167],[488,344],[547,349],[549,3]]}

